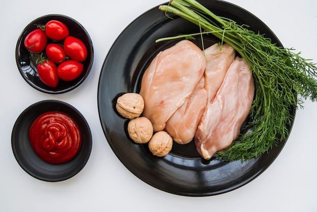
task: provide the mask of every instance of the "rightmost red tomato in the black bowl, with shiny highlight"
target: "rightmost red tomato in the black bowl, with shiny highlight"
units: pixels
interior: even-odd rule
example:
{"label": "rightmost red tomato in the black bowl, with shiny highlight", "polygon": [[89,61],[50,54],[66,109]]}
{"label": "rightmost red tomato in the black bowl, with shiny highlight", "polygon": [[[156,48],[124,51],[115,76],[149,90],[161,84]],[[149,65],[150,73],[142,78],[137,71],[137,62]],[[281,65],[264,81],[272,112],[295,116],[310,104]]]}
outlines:
{"label": "rightmost red tomato in the black bowl, with shiny highlight", "polygon": [[85,44],[72,36],[68,36],[64,41],[64,50],[73,60],[84,61],[87,57],[87,48]]}

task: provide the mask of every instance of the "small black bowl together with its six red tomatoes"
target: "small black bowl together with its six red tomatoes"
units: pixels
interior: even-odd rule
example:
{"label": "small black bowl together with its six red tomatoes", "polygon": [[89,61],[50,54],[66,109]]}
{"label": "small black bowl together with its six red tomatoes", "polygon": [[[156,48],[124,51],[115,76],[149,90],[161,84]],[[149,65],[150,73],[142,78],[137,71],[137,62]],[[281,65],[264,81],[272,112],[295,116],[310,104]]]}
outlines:
{"label": "small black bowl together with its six red tomatoes", "polygon": [[[54,27],[57,27],[58,31],[54,21],[63,23],[68,33],[54,32]],[[52,24],[49,26],[48,23]],[[32,37],[28,36],[32,33]],[[76,42],[79,42],[79,46],[82,45],[86,52],[73,48],[78,46]],[[56,59],[54,57],[60,55],[56,53],[54,56],[54,51],[51,51],[52,58],[46,50],[52,46],[61,47],[64,54],[67,52],[65,58],[53,62],[52,60]],[[81,54],[85,56],[78,56]],[[90,73],[93,56],[93,44],[87,30],[76,20],[58,14],[45,15],[30,22],[20,34],[16,46],[16,62],[23,79],[33,88],[50,94],[65,93],[82,84]]]}

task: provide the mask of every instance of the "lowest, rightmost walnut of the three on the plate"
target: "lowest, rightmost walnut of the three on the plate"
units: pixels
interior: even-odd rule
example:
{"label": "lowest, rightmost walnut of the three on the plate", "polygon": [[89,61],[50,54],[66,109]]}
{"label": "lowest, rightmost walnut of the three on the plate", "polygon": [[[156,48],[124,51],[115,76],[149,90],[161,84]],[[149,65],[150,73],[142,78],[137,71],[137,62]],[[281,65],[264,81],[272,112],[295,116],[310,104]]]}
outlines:
{"label": "lowest, rightmost walnut of the three on the plate", "polygon": [[148,143],[148,147],[153,155],[163,157],[171,150],[173,145],[173,138],[166,131],[156,132]]}

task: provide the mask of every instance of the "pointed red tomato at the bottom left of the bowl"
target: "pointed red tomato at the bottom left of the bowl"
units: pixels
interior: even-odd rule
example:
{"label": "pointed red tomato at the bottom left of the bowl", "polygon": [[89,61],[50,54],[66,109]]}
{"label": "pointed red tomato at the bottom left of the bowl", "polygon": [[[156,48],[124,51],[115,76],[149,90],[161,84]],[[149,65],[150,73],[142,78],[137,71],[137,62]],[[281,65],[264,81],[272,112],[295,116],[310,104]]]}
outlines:
{"label": "pointed red tomato at the bottom left of the bowl", "polygon": [[37,64],[37,74],[39,79],[47,86],[55,88],[59,78],[57,74],[57,66],[50,60],[44,60]]}

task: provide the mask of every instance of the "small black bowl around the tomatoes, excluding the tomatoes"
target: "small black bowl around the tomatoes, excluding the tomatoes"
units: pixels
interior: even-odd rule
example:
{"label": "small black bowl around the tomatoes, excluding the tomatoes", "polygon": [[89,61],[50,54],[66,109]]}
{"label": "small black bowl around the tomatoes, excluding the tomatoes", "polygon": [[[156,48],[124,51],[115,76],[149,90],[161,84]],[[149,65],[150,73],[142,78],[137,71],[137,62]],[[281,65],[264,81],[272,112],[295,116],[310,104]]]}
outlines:
{"label": "small black bowl around the tomatoes, excluding the tomatoes", "polygon": [[[83,62],[84,69],[82,74],[75,80],[69,82],[60,80],[55,88],[45,85],[38,78],[35,61],[40,54],[31,55],[30,52],[24,47],[24,39],[27,34],[36,29],[37,25],[45,25],[50,20],[58,20],[63,22],[69,30],[69,36],[80,39],[87,47],[87,58]],[[48,39],[48,44],[54,42],[55,41]],[[33,20],[23,29],[17,42],[15,57],[20,74],[30,86],[44,93],[59,94],[73,90],[87,78],[93,64],[94,50],[88,32],[76,20],[64,15],[45,15]]]}

